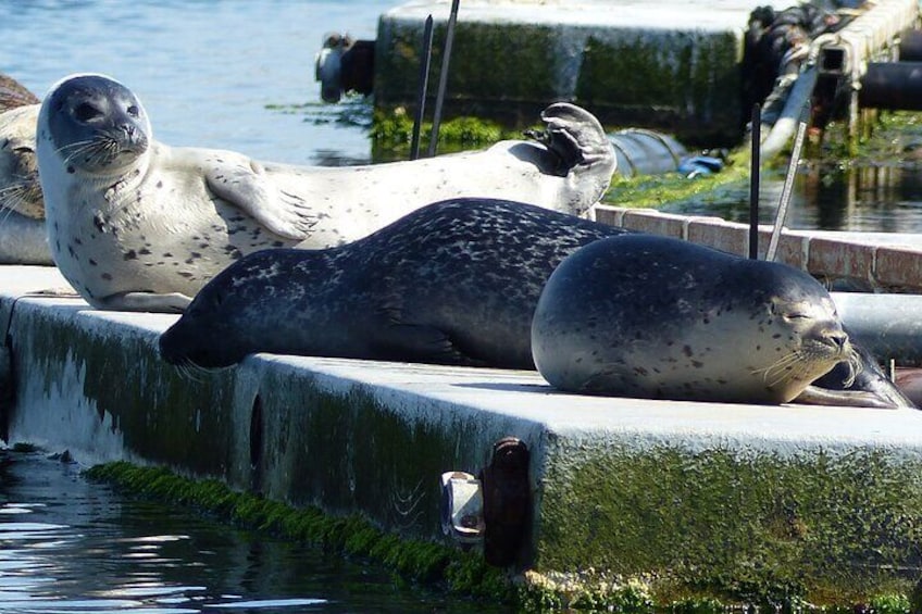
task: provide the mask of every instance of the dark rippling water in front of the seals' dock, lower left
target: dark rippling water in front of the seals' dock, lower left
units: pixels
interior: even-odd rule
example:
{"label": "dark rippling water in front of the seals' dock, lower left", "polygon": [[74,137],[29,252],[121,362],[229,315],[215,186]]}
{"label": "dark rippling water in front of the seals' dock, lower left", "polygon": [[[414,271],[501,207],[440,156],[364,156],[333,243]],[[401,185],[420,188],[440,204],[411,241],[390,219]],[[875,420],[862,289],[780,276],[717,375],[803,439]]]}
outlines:
{"label": "dark rippling water in front of the seals' dock, lower left", "polygon": [[[0,613],[490,611],[0,450]],[[491,610],[498,612],[499,610]]]}

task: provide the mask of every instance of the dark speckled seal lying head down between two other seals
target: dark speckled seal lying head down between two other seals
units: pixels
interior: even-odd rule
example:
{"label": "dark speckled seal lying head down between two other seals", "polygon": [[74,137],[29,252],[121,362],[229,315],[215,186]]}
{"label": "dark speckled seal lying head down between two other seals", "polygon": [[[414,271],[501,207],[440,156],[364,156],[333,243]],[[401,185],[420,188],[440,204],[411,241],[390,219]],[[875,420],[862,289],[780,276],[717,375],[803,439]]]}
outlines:
{"label": "dark speckled seal lying head down between two other seals", "polygon": [[346,246],[244,258],[160,352],[208,368],[275,352],[533,369],[532,314],[553,267],[624,231],[516,202],[435,203]]}

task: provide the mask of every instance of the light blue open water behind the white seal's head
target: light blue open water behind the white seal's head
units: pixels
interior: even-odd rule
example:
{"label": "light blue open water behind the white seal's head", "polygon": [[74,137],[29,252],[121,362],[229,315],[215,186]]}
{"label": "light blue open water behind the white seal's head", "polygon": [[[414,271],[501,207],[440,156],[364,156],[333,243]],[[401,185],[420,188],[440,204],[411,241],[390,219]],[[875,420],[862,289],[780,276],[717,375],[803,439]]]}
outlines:
{"label": "light blue open water behind the white seal's head", "polygon": [[363,163],[367,130],[320,104],[326,32],[374,39],[393,0],[0,0],[0,72],[42,96],[78,72],[138,95],[158,139],[296,164]]}

